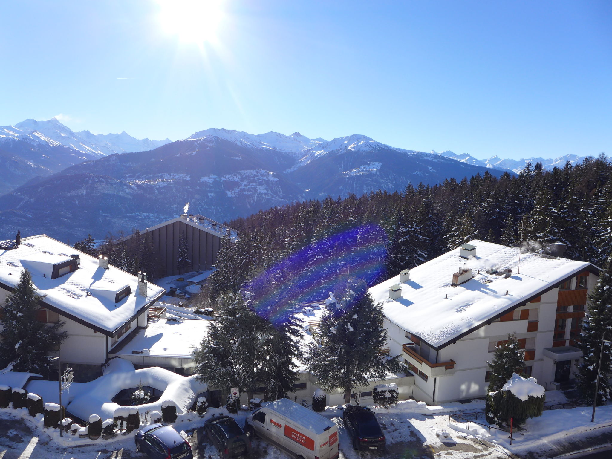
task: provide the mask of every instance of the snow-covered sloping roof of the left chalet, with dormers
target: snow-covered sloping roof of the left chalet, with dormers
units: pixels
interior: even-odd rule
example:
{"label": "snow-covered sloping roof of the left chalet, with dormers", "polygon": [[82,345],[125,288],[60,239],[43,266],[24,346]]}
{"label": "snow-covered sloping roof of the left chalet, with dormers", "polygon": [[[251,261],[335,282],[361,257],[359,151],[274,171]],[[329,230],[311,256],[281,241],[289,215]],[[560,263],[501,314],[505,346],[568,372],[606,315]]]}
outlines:
{"label": "snow-covered sloping roof of the left chalet, with dormers", "polygon": [[[80,255],[78,269],[52,279],[53,264],[69,261],[73,254]],[[31,269],[33,266],[39,269]],[[0,250],[0,287],[12,290],[23,267],[31,269],[32,283],[45,295],[42,300],[45,307],[106,335],[112,335],[165,293],[163,288],[148,282],[145,298],[138,294],[136,276],[110,265],[104,269],[97,258],[44,234],[24,237],[18,248]],[[100,294],[103,286],[108,286],[108,295]],[[115,286],[117,289],[129,286],[132,293],[115,303],[118,291]]]}

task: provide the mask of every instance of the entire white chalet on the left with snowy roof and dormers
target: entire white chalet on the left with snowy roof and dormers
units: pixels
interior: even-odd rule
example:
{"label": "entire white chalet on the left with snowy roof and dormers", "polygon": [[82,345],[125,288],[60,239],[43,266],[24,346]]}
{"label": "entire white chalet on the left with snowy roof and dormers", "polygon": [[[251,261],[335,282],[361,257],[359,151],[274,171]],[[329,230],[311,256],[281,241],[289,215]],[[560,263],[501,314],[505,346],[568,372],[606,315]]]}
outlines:
{"label": "entire white chalet on the left with snowy roof and dormers", "polygon": [[[147,326],[149,308],[165,289],[129,274],[70,245],[41,235],[0,242],[1,307],[27,268],[42,308],[38,320],[64,322],[68,338],[61,345],[62,364],[75,368],[83,381],[100,376],[114,349]],[[58,349],[50,349],[55,353]]]}

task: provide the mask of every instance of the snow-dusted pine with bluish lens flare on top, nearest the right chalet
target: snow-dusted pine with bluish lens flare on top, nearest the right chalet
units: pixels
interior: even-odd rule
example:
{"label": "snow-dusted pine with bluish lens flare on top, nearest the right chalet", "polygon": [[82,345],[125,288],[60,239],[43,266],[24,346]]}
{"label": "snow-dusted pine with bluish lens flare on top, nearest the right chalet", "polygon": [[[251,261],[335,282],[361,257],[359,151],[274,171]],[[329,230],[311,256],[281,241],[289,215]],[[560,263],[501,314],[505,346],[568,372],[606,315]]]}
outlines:
{"label": "snow-dusted pine with bluish lens flare on top, nearest the right chalet", "polygon": [[348,282],[326,300],[316,342],[308,345],[304,362],[325,390],[343,389],[345,402],[353,388],[366,386],[368,379],[384,379],[387,372],[400,370],[399,356],[381,356],[387,341],[381,305],[375,305],[365,283]]}

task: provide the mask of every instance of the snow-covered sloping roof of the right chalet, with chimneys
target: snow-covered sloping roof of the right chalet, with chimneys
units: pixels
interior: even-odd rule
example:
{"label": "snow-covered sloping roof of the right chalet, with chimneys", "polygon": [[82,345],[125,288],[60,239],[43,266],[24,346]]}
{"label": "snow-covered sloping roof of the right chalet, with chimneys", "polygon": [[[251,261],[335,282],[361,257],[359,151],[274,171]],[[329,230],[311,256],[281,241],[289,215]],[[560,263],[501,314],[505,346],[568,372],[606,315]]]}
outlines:
{"label": "snow-covered sloping roof of the right chalet, with chimneys", "polygon": [[[456,248],[411,269],[405,283],[397,275],[371,287],[374,301],[383,303],[389,321],[441,348],[565,278],[597,269],[584,261],[523,253],[517,274],[518,248],[479,240],[469,244],[476,246],[475,257],[460,258]],[[453,274],[460,267],[471,268],[473,277],[453,287]],[[487,272],[501,274],[506,268],[512,269],[507,278]],[[395,284],[401,286],[401,296],[392,300],[389,288]]]}

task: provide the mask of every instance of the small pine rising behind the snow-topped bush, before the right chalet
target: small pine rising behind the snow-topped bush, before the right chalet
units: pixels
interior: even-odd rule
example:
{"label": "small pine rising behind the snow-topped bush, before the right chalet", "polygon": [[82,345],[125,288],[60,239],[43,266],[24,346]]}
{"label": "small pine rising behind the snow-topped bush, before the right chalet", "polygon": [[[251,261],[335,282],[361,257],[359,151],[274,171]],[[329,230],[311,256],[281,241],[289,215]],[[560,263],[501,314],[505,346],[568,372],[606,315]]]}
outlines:
{"label": "small pine rising behind the snow-topped bush, before the right chalet", "polygon": [[[496,392],[504,387],[506,381],[512,377],[512,373],[518,373],[524,366],[524,351],[520,349],[517,337],[512,334],[508,339],[497,346],[493,354],[493,360],[487,362],[491,368],[487,394]],[[496,422],[497,414],[491,411],[491,398],[487,395],[485,416],[489,424]]]}

